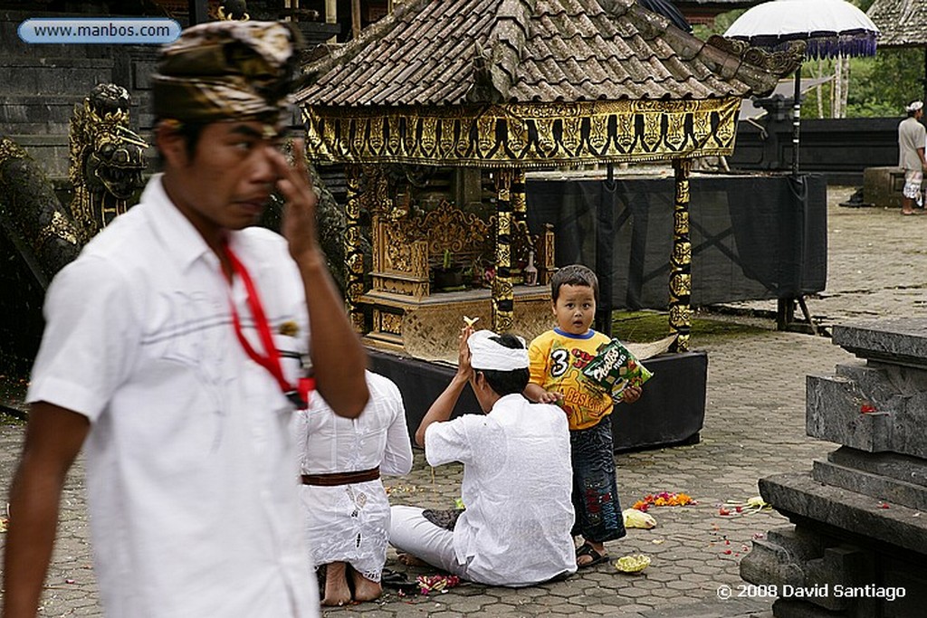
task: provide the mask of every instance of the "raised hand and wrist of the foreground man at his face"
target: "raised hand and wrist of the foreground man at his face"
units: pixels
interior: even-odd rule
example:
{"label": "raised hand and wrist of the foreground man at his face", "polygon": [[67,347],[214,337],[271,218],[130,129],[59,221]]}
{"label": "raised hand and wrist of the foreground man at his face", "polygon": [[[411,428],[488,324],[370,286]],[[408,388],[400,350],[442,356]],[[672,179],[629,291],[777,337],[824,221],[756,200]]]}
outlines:
{"label": "raised hand and wrist of the foreground man at his face", "polygon": [[319,198],[306,169],[303,141],[293,141],[293,165],[280,153],[274,155],[273,165],[279,178],[277,188],[286,197],[283,234],[289,241],[290,255],[297,262],[318,259],[321,256],[316,223]]}

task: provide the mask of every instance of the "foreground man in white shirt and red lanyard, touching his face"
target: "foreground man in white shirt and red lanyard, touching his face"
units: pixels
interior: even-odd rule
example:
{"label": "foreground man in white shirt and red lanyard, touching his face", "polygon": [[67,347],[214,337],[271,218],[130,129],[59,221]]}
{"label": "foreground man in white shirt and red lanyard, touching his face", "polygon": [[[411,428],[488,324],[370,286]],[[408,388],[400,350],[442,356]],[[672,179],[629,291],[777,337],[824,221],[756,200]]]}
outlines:
{"label": "foreground man in white shirt and red lanyard, touching his face", "polygon": [[[289,433],[305,397],[293,359],[309,352],[341,415],[360,414],[368,391],[302,157],[291,168],[276,147],[296,40],[281,23],[226,21],[164,49],[152,78],[164,173],[48,291],[10,492],[5,618],[36,614],[84,443],[108,616],[318,615]],[[286,238],[249,227],[274,186]]]}

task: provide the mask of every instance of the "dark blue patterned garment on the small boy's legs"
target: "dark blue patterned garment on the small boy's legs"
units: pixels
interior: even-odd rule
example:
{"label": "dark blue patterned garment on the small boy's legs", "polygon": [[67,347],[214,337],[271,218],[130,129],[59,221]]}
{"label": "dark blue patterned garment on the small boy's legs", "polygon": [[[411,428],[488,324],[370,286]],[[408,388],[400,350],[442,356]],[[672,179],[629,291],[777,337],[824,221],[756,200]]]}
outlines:
{"label": "dark blue patterned garment on the small boy's legs", "polygon": [[615,478],[612,417],[570,432],[573,463],[573,535],[603,543],[627,535]]}

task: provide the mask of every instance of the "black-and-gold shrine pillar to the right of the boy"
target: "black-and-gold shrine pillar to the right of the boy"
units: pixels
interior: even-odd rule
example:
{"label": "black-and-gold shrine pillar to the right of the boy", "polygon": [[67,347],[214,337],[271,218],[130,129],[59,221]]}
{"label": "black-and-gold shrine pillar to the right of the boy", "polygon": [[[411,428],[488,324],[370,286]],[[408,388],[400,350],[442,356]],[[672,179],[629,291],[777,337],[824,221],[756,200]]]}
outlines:
{"label": "black-and-gold shrine pillar to the right of the boy", "polygon": [[676,335],[673,352],[689,349],[692,330],[692,241],[689,238],[689,171],[692,161],[673,159],[673,252],[669,258],[669,331]]}

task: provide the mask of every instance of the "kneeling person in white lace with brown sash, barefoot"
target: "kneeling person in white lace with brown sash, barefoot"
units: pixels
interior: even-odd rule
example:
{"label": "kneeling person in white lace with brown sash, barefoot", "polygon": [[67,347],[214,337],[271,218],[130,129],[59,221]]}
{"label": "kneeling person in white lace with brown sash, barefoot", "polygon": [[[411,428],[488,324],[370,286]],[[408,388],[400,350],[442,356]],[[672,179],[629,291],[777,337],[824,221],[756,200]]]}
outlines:
{"label": "kneeling person in white lace with brown sash, barefoot", "polygon": [[370,399],[356,419],[336,416],[317,393],[298,412],[299,498],[312,562],[326,565],[323,605],[380,596],[389,532],[380,474],[412,470],[400,389],[385,376],[366,376]]}

